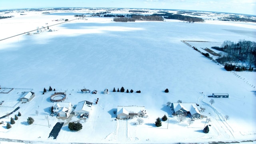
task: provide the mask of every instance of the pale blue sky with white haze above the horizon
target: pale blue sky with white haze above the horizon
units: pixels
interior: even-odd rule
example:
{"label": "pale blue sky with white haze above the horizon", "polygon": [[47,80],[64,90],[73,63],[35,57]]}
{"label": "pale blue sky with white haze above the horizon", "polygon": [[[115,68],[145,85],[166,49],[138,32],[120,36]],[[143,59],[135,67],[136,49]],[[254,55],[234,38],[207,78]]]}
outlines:
{"label": "pale blue sky with white haze above the horizon", "polygon": [[0,0],[0,10],[54,7],[156,8],[256,15],[256,0]]}

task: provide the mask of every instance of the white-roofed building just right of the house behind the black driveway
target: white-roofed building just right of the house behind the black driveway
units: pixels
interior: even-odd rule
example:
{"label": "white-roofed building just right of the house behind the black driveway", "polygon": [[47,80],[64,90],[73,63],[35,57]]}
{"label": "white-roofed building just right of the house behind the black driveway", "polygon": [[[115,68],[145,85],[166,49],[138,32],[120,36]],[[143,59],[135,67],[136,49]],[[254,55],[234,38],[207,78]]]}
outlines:
{"label": "white-roofed building just right of the house behind the black driveway", "polygon": [[86,115],[89,116],[90,111],[92,110],[92,102],[86,100],[78,102],[76,109],[74,110],[75,115]]}

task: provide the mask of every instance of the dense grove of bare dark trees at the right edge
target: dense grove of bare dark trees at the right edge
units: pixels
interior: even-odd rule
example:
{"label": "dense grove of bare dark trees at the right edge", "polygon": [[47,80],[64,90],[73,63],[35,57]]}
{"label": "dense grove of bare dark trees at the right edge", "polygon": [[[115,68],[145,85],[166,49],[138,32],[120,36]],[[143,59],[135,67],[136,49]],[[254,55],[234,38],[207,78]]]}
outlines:
{"label": "dense grove of bare dark trees at the right edge", "polygon": [[233,68],[252,70],[252,67],[256,66],[256,42],[239,40],[238,43],[234,43],[226,40],[221,48],[212,48],[226,53],[216,59],[216,61],[220,64],[231,66],[232,70],[234,70]]}

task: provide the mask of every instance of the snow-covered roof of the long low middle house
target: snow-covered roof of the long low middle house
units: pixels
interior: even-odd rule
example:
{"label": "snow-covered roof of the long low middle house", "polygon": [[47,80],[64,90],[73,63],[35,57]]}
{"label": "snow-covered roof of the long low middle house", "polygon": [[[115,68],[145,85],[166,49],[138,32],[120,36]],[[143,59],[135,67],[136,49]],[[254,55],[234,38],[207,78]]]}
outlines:
{"label": "snow-covered roof of the long low middle house", "polygon": [[117,106],[117,114],[121,112],[125,114],[129,114],[131,112],[139,113],[141,111],[145,112],[145,106]]}

